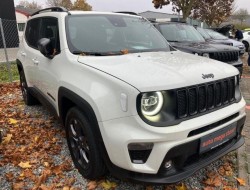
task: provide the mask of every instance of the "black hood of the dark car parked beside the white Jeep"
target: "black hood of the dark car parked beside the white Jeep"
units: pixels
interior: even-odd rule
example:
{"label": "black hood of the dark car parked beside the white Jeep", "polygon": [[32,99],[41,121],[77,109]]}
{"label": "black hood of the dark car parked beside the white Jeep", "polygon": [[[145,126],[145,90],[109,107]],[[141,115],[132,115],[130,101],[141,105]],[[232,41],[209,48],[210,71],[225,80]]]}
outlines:
{"label": "black hood of the dark car parked beside the white Jeep", "polygon": [[185,52],[192,52],[192,53],[212,53],[218,51],[237,51],[238,49],[232,46],[223,45],[223,44],[214,44],[208,42],[172,42],[170,43],[176,49]]}

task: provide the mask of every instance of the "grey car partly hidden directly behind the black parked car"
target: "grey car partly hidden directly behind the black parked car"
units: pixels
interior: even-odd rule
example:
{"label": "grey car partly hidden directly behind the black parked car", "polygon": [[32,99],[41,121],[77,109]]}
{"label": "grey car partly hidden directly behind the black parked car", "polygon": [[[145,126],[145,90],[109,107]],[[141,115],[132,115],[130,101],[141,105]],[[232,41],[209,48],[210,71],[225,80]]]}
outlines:
{"label": "grey car partly hidden directly behind the black parked car", "polygon": [[239,48],[240,55],[243,55],[245,53],[245,45],[240,41],[230,39],[212,29],[204,29],[200,27],[197,27],[196,29],[207,42],[234,46]]}

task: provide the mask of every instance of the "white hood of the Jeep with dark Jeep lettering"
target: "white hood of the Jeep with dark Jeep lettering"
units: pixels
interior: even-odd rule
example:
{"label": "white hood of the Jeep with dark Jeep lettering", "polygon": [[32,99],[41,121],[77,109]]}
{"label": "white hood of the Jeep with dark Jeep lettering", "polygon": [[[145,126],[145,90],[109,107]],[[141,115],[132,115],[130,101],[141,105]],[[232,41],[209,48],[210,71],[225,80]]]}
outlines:
{"label": "white hood of the Jeep with dark Jeep lettering", "polygon": [[[228,64],[180,51],[79,56],[78,61],[141,92],[175,89],[238,74],[238,70]],[[213,74],[214,78],[203,79],[203,74]]]}

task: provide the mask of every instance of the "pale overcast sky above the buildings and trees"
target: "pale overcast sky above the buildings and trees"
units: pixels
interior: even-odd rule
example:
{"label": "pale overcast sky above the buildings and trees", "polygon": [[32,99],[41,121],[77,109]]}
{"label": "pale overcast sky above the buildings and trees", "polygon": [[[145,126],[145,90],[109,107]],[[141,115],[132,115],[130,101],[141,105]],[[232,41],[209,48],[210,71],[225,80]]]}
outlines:
{"label": "pale overcast sky above the buildings and trees", "polygon": [[[28,0],[32,1],[32,0]],[[39,4],[46,6],[46,0],[34,0]],[[14,0],[18,4],[20,0]],[[87,0],[95,11],[156,11],[164,13],[173,13],[171,5],[164,6],[162,9],[155,9],[152,0]],[[250,0],[235,0],[236,8],[247,9],[250,13]]]}

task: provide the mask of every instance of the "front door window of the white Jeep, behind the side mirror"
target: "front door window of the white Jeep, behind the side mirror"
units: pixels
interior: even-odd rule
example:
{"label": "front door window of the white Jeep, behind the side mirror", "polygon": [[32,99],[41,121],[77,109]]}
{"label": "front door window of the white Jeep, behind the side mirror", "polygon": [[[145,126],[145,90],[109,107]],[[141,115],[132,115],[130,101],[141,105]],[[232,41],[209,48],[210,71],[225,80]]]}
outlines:
{"label": "front door window of the white Jeep, behind the side mirror", "polygon": [[55,54],[60,52],[60,38],[57,18],[42,18],[39,39],[41,38],[50,39]]}

